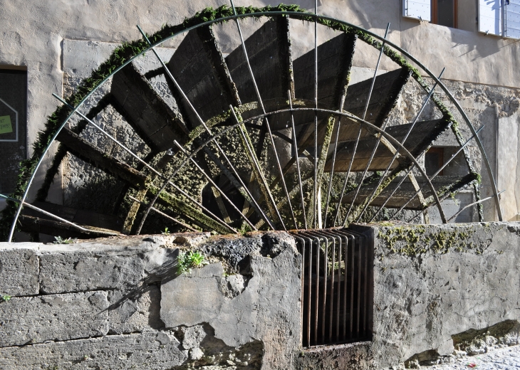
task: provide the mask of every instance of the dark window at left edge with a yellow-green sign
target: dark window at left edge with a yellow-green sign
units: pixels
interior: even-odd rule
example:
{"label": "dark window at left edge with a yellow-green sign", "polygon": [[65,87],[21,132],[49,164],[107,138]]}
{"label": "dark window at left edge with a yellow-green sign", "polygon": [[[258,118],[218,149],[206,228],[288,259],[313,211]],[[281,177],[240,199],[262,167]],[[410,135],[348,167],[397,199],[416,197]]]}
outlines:
{"label": "dark window at left edge with a yellow-green sign", "polygon": [[14,191],[19,163],[27,153],[27,71],[7,68],[0,66],[0,194]]}

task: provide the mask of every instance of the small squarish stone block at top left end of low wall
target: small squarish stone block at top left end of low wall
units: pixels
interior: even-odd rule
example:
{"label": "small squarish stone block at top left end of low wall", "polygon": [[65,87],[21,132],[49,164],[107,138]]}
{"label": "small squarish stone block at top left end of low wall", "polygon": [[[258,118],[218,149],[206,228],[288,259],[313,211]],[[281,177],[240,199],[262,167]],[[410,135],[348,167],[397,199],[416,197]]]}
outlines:
{"label": "small squarish stone block at top left end of low wall", "polygon": [[37,243],[0,243],[0,294],[35,295],[38,284]]}

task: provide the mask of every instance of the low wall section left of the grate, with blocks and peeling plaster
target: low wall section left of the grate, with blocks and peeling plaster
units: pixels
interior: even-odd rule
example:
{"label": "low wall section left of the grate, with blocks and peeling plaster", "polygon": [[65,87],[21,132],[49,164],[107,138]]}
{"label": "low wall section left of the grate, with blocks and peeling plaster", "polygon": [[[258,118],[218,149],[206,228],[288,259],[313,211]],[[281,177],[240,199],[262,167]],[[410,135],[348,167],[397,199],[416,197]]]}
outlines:
{"label": "low wall section left of the grate, with blocks and peeling plaster", "polygon": [[[179,276],[184,248],[209,265]],[[1,369],[289,369],[299,348],[284,233],[2,243],[0,263]]]}

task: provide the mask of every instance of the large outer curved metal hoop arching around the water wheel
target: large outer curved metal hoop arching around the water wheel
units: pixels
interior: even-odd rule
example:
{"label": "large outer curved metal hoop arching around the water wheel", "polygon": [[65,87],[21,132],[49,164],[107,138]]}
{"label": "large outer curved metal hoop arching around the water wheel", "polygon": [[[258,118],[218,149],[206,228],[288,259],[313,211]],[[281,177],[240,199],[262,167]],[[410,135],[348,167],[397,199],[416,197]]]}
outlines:
{"label": "large outer curved metal hoop arching around the water wheel", "polygon": [[[340,21],[339,19],[336,19],[336,18],[332,18],[332,17],[329,17],[329,16],[321,16],[319,14],[313,14],[313,13],[304,13],[304,12],[297,12],[297,11],[264,11],[264,12],[259,12],[259,13],[249,13],[249,14],[237,14],[237,15],[234,15],[234,16],[227,16],[227,17],[223,17],[223,18],[217,18],[217,19],[213,19],[212,21],[205,21],[205,22],[202,22],[202,23],[199,23],[197,25],[194,25],[194,26],[191,26],[191,27],[188,27],[188,28],[185,28],[184,30],[182,31],[178,31],[174,34],[172,34],[171,36],[168,36],[167,38],[164,38],[162,39],[161,41],[157,41],[156,43],[153,43],[151,46],[149,46],[148,48],[146,48],[144,51],[140,52],[140,53],[137,53],[135,56],[133,56],[132,58],[130,58],[129,60],[127,60],[125,63],[123,63],[123,65],[120,65],[118,68],[116,68],[115,70],[113,70],[112,73],[110,73],[110,75],[108,75],[105,79],[103,79],[103,81],[101,81],[95,88],[93,88],[87,95],[85,95],[85,97],[83,97],[83,99],[78,103],[78,105],[76,105],[76,107],[74,107],[74,109],[71,111],[71,114],[68,115],[68,117],[66,118],[66,120],[63,121],[63,123],[61,124],[61,126],[58,128],[58,130],[56,131],[56,133],[53,135],[51,141],[48,143],[46,149],[43,151],[43,153],[41,154],[41,157],[40,159],[38,160],[38,163],[36,164],[35,168],[33,169],[33,173],[31,174],[31,177],[29,178],[28,182],[27,182],[27,185],[26,185],[26,189],[24,191],[24,196],[22,197],[22,199],[20,200],[19,202],[19,206],[18,206],[18,209],[16,210],[16,215],[14,216],[14,219],[13,219],[13,223],[11,224],[11,231],[9,232],[9,239],[7,240],[8,242],[11,242],[12,238],[13,238],[13,235],[14,235],[14,229],[16,227],[16,221],[18,221],[18,218],[20,216],[20,213],[21,213],[21,209],[23,208],[24,206],[24,202],[27,198],[27,194],[28,194],[28,191],[29,189],[31,188],[31,184],[36,176],[36,172],[38,171],[39,167],[41,166],[41,163],[43,162],[43,159],[45,158],[46,154],[48,153],[48,150],[51,148],[51,145],[53,144],[53,142],[55,142],[56,140],[56,137],[58,137],[58,134],[61,132],[61,129],[63,129],[63,127],[65,127],[65,125],[67,124],[67,122],[71,119],[71,117],[76,113],[76,111],[83,106],[83,104],[85,103],[86,100],[88,100],[88,98],[90,96],[93,95],[93,93],[95,93],[95,91],[98,90],[98,88],[100,88],[102,85],[104,85],[110,78],[113,77],[113,75],[115,75],[115,73],[118,73],[120,70],[122,70],[123,68],[125,68],[128,64],[132,63],[132,61],[139,57],[139,56],[142,56],[143,54],[147,53],[147,51],[150,51],[152,48],[155,48],[157,46],[160,46],[162,45],[162,43],[165,43],[166,41],[169,41],[170,39],[172,38],[175,38],[176,36],[182,34],[182,33],[185,33],[185,32],[189,32],[189,31],[192,31],[193,29],[195,28],[199,28],[199,27],[202,27],[202,26],[209,26],[211,24],[214,24],[214,23],[222,23],[222,22],[225,22],[225,21],[231,21],[231,20],[234,20],[234,19],[239,19],[239,18],[251,18],[251,17],[255,17],[255,16],[293,16],[292,18],[301,18],[302,16],[305,16],[305,17],[308,17],[308,18],[314,18],[315,22],[318,21],[318,19],[323,19],[323,20],[326,20],[326,21],[333,21],[333,22],[336,22],[336,23],[339,23],[339,24],[342,24],[344,26],[348,26],[350,28],[354,28],[358,31],[363,31],[365,33],[367,33],[369,36],[372,36],[373,38],[377,38],[379,41],[383,41],[385,43],[385,45],[387,46],[391,46],[392,48],[395,48],[395,50],[399,51],[400,53],[402,53],[403,55],[405,55],[407,58],[409,58],[410,60],[412,60],[413,63],[415,63],[420,69],[424,70],[427,75],[430,76],[430,78],[432,78],[435,82],[437,82],[438,85],[440,85],[440,88],[442,88],[442,90],[444,91],[444,93],[446,93],[446,95],[449,97],[449,100],[452,101],[452,103],[455,105],[455,107],[457,107],[457,110],[459,111],[459,113],[462,115],[462,118],[464,119],[464,122],[466,122],[466,124],[468,125],[470,131],[472,132],[472,134],[474,135],[475,137],[475,140],[477,142],[477,145],[479,146],[479,149],[480,149],[480,152],[482,154],[482,159],[484,160],[484,164],[487,168],[487,171],[488,171],[488,175],[489,175],[489,179],[491,181],[491,185],[492,185],[492,190],[493,190],[493,194],[494,194],[494,199],[495,199],[495,203],[496,203],[496,212],[498,213],[498,217],[499,217],[499,221],[502,221],[502,215],[501,215],[501,208],[500,208],[500,200],[499,200],[499,196],[497,196],[498,194],[498,191],[496,189],[496,183],[495,183],[495,180],[494,180],[494,175],[492,173],[492,169],[491,169],[491,166],[489,165],[489,159],[487,158],[487,154],[484,150],[484,146],[482,145],[482,142],[480,141],[478,135],[476,134],[476,130],[474,129],[472,123],[470,122],[469,120],[469,117],[467,117],[466,113],[464,112],[464,110],[462,110],[462,107],[461,105],[459,104],[459,102],[455,99],[455,97],[452,95],[452,93],[449,92],[449,90],[447,89],[447,87],[441,82],[441,80],[439,80],[437,78],[436,75],[434,75],[432,73],[432,71],[430,71],[428,68],[426,68],[425,65],[423,65],[422,63],[419,62],[419,60],[417,60],[416,58],[414,58],[410,53],[408,53],[407,51],[405,51],[404,49],[400,48],[400,46],[397,46],[395,43],[392,43],[392,41],[389,41],[385,38],[383,38],[382,36],[379,36],[378,34],[376,33],[373,33],[371,31],[368,31],[368,30],[365,30],[364,28],[361,28],[360,26],[355,26],[354,24],[352,23],[348,23],[346,21]],[[337,112],[336,112],[337,113]]]}

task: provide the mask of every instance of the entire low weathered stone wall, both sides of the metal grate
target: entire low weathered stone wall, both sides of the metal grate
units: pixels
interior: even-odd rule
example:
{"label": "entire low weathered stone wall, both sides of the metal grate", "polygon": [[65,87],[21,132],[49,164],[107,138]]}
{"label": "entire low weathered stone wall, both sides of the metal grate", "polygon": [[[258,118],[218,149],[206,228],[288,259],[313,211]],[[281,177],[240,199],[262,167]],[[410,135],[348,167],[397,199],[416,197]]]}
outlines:
{"label": "entire low weathered stone wall, both sides of the metal grate", "polygon": [[[1,243],[0,368],[382,369],[519,343],[519,224],[384,225],[352,226],[374,241],[372,342],[312,349],[287,233]],[[187,250],[209,264],[179,275]]]}

